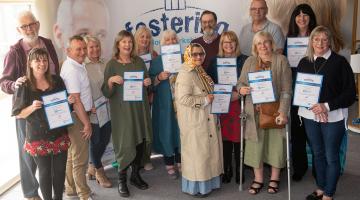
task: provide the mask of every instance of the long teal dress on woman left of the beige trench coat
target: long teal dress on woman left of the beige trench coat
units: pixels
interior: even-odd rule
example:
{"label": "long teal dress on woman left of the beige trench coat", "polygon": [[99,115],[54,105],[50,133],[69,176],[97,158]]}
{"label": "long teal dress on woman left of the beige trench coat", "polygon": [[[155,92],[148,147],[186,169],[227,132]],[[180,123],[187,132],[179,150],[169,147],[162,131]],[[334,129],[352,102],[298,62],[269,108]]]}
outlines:
{"label": "long teal dress on woman left of the beige trench coat", "polygon": [[[151,61],[149,75],[152,82],[164,71],[161,56]],[[169,80],[161,81],[153,87],[154,100],[152,107],[153,148],[155,152],[170,157],[177,148],[180,150],[180,131],[175,117],[173,97]]]}

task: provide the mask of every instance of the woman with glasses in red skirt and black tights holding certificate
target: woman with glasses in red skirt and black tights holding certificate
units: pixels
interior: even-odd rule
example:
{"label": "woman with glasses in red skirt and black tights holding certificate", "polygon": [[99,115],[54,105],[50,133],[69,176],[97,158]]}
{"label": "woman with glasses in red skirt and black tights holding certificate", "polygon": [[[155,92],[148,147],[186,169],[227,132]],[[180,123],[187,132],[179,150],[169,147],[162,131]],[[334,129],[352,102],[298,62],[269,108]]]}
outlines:
{"label": "woman with glasses in red skirt and black tights holding certificate", "polygon": [[[209,76],[216,84],[235,86],[246,59],[247,56],[240,53],[239,40],[236,34],[233,31],[225,31],[220,37],[218,56],[210,62],[208,67]],[[229,113],[220,115],[224,157],[223,183],[229,183],[233,175],[233,151],[235,152],[236,166],[235,180],[236,183],[240,183],[240,113],[239,94],[234,88]]]}

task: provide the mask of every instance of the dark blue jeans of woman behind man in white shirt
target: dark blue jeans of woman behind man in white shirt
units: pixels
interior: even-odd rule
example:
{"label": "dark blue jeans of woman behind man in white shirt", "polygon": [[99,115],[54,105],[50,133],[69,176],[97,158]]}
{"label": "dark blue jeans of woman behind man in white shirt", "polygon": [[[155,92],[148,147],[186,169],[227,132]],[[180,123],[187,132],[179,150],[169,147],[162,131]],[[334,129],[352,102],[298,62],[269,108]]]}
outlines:
{"label": "dark blue jeans of woman behind man in white shirt", "polygon": [[90,138],[90,162],[96,169],[102,167],[101,157],[109,144],[111,136],[111,123],[108,122],[101,128],[99,124],[91,124],[93,132]]}

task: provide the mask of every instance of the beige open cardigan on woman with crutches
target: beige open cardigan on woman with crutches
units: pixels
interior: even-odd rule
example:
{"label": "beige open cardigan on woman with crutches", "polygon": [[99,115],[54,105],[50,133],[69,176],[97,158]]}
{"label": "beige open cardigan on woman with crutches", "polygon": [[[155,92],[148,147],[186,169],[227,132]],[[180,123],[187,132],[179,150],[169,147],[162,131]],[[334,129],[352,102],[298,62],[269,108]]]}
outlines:
{"label": "beige open cardigan on woman with crutches", "polygon": [[[236,85],[239,90],[240,87],[249,86],[248,72],[256,71],[257,58],[255,56],[249,57],[242,68],[240,78]],[[276,100],[280,99],[279,112],[288,114],[291,104],[291,93],[292,93],[292,77],[289,63],[285,56],[280,54],[273,54],[271,59],[271,71],[273,87],[275,92]],[[258,124],[255,123],[254,105],[251,96],[248,95],[245,98],[245,113],[247,119],[245,123],[245,139],[251,139],[257,141],[258,139]],[[285,136],[285,128],[277,129],[279,133]]]}

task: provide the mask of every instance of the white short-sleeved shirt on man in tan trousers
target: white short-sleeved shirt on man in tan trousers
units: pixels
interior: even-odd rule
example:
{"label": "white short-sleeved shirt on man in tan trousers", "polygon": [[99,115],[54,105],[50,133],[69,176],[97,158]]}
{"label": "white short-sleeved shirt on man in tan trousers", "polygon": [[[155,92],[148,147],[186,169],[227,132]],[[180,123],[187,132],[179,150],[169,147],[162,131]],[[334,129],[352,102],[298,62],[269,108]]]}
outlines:
{"label": "white short-sleeved shirt on man in tan trousers", "polygon": [[79,64],[70,57],[62,64],[60,76],[64,80],[68,93],[80,93],[80,99],[85,111],[92,107],[92,96],[89,78],[84,64]]}

